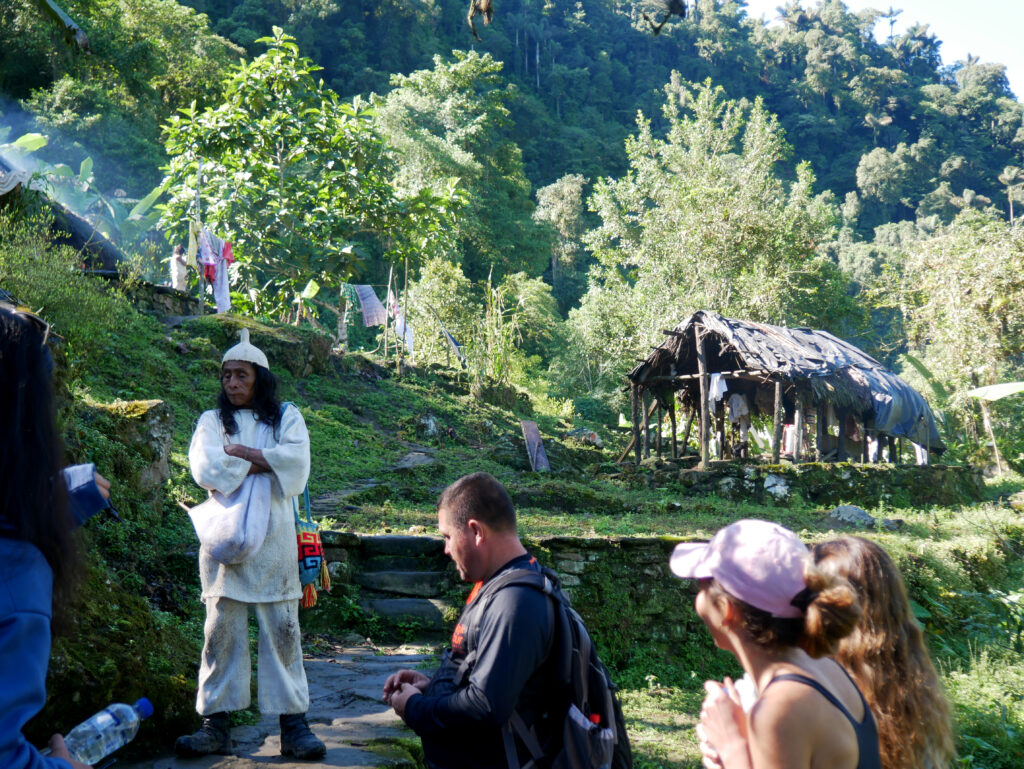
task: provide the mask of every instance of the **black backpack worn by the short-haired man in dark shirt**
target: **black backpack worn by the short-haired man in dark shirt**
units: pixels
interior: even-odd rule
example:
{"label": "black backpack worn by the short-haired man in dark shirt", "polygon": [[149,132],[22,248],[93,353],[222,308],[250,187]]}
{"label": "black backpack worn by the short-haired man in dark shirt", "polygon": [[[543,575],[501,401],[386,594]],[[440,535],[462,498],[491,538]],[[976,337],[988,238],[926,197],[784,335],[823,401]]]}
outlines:
{"label": "black backpack worn by the short-haired man in dark shirt", "polygon": [[[495,593],[511,585],[540,590],[551,599],[554,637],[549,657],[554,660],[557,680],[568,691],[569,704],[561,728],[561,744],[556,743],[549,753],[519,713],[512,714],[502,728],[509,769],[633,769],[633,752],[623,709],[615,696],[615,685],[554,571],[547,567],[543,572],[523,568],[499,574],[477,596],[477,606],[473,607],[480,611],[477,617],[482,615]],[[478,623],[479,620],[467,623],[472,628],[467,633],[468,646],[475,644]],[[466,668],[471,667],[475,658],[475,649],[469,648],[460,678],[468,675]],[[525,765],[519,763],[517,738],[531,756]]]}

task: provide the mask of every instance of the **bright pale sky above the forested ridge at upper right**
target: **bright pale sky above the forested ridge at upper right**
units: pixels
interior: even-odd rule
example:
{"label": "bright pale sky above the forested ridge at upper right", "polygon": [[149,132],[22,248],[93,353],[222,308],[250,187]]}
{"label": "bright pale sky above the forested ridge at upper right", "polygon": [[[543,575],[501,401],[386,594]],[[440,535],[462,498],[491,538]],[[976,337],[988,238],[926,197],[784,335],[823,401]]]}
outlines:
{"label": "bright pale sky above the forested ridge at upper right", "polygon": [[[805,7],[818,0],[803,0]],[[902,9],[894,31],[899,34],[915,22],[927,24],[942,41],[942,60],[951,65],[968,53],[982,61],[996,61],[1007,68],[1010,87],[1018,99],[1024,98],[1024,0],[845,0],[853,11],[863,8]],[[778,16],[784,0],[746,0],[749,15],[764,16],[769,23]],[[889,36],[889,23],[880,20],[874,30],[880,39]]]}

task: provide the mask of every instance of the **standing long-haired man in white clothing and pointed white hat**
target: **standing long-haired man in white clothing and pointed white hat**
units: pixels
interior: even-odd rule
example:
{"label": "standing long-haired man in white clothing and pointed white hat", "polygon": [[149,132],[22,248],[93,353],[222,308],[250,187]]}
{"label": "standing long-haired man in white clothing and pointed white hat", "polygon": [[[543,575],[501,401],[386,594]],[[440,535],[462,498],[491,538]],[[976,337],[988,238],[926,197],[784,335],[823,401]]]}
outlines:
{"label": "standing long-haired man in white clothing and pointed white hat", "polygon": [[200,417],[188,463],[197,483],[222,495],[236,492],[249,475],[268,473],[269,522],[263,545],[240,563],[220,563],[200,548],[206,625],[196,710],[203,725],[178,737],[174,750],[183,757],[230,753],[228,713],[251,701],[251,608],[259,621],[260,712],[281,714],[282,755],[319,759],[327,749],[305,717],[309,690],[302,667],[302,590],[292,508],[292,498],[302,493],[309,475],[309,434],[298,409],[282,409],[266,355],[249,343],[248,330],[241,337],[224,353],[218,408]]}

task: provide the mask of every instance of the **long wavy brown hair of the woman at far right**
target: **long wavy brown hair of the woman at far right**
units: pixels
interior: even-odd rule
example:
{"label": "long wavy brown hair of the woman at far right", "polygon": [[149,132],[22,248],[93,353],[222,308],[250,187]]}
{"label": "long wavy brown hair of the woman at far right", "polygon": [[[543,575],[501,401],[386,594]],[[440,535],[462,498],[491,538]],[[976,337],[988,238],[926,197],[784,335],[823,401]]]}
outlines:
{"label": "long wavy brown hair of the woman at far right", "polygon": [[818,543],[822,571],[847,579],[860,599],[860,622],[839,643],[879,725],[884,769],[947,769],[955,756],[949,703],[910,610],[899,569],[879,545],[860,537]]}

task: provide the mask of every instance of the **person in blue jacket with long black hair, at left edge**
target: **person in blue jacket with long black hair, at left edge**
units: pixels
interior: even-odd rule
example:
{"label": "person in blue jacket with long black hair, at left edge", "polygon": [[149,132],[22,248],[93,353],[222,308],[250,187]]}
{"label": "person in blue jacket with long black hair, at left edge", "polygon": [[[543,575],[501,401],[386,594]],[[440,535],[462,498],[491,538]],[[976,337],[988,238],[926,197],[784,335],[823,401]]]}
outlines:
{"label": "person in blue jacket with long black hair, at left edge", "polygon": [[51,627],[67,612],[81,565],[60,475],[45,323],[0,307],[0,766],[85,769],[63,738],[42,756],[22,733],[46,702]]}

